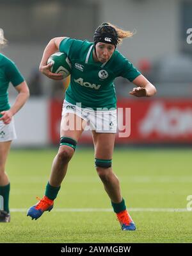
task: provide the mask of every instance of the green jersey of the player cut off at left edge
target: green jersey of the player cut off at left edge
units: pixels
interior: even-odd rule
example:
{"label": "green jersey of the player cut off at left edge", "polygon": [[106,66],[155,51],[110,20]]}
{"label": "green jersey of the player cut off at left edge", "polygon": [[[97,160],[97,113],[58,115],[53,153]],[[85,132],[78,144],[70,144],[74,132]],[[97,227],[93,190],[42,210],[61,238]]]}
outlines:
{"label": "green jersey of the player cut off at left edge", "polygon": [[0,112],[10,109],[10,103],[8,101],[8,86],[12,82],[12,85],[16,87],[24,81],[24,78],[20,74],[16,65],[0,53]]}

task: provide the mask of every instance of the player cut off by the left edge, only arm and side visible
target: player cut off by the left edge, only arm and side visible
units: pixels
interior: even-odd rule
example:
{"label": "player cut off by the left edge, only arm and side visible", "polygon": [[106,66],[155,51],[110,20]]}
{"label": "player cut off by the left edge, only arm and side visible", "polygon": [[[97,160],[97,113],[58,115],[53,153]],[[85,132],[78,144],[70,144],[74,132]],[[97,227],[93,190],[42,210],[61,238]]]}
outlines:
{"label": "player cut off by the left edge, only arm and side visible", "polygon": [[[6,44],[3,30],[0,28],[0,48]],[[8,87],[10,82],[19,93],[10,107]],[[13,115],[26,103],[29,89],[16,65],[0,53],[0,222],[10,222],[9,194],[10,181],[5,172],[6,158],[13,139],[16,139]]]}

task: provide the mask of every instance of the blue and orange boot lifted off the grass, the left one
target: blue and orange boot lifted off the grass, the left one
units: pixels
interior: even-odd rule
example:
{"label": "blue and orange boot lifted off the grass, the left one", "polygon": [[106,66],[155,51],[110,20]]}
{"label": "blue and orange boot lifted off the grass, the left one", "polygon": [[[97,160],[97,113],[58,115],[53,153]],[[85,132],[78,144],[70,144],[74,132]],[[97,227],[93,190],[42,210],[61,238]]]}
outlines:
{"label": "blue and orange boot lifted off the grass, the left one", "polygon": [[30,207],[27,213],[27,216],[30,216],[32,220],[40,218],[46,210],[50,212],[53,208],[53,200],[47,198],[47,196],[44,196],[42,199],[37,197],[36,199],[40,201]]}

